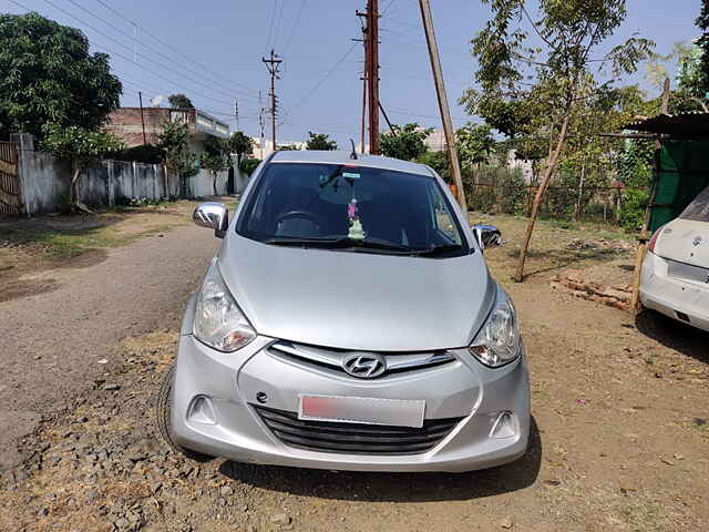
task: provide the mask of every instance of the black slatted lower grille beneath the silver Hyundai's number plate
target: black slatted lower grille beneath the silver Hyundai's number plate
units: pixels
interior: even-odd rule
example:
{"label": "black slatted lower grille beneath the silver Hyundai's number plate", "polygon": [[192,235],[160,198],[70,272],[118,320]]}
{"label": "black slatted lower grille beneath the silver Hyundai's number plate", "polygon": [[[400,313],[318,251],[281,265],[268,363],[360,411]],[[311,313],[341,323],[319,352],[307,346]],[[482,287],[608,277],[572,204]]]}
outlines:
{"label": "black slatted lower grille beneath the silver Hyundai's number plate", "polygon": [[433,449],[463,419],[429,419],[421,428],[390,427],[301,420],[295,412],[254,408],[270,431],[287,446],[352,454],[419,454]]}

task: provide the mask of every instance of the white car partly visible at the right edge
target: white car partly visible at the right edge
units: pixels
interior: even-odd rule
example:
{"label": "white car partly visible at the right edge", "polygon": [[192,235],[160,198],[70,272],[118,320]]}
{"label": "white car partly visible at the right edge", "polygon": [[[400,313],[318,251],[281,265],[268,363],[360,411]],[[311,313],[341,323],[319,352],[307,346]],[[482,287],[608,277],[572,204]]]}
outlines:
{"label": "white car partly visible at the right edge", "polygon": [[709,331],[709,187],[650,238],[640,301]]}

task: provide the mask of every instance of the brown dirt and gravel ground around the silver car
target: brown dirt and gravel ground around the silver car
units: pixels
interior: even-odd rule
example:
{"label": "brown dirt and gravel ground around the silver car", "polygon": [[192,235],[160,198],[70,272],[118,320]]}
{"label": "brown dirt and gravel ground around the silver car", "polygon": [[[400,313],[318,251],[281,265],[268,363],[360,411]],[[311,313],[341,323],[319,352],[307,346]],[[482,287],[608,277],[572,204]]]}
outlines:
{"label": "brown dirt and gravel ground around the silver car", "polygon": [[559,267],[616,258],[569,254],[573,232],[542,226],[537,273],[511,283],[523,222],[499,224],[508,243],[487,258],[518,308],[532,374],[520,461],[451,475],[185,460],[152,426],[176,328],[145,324],[116,350],[123,364],[24,440],[31,458],[6,477],[0,530],[708,530],[709,335],[654,317],[636,328],[553,290]]}

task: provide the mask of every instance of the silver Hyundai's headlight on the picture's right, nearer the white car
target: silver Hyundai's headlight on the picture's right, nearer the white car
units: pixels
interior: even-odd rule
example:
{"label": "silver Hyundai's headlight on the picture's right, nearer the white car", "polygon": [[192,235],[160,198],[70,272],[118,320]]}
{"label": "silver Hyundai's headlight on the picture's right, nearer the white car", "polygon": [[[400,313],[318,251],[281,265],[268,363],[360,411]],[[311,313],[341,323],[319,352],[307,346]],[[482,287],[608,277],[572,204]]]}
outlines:
{"label": "silver Hyundai's headlight on the picture's right, nearer the white car", "polygon": [[497,368],[520,356],[517,317],[510,296],[497,288],[497,300],[487,321],[470,345],[470,352],[485,366]]}

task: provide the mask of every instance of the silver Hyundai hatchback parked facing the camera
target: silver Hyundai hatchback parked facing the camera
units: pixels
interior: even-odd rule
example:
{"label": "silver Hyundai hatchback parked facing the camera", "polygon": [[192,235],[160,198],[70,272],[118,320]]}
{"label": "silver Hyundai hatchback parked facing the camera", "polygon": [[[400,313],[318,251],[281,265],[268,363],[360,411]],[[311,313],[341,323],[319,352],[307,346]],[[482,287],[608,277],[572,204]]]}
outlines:
{"label": "silver Hyundai hatchback parked facing the camera", "polygon": [[277,152],[185,313],[157,420],[193,457],[356,471],[470,471],[527,447],[515,308],[430,167]]}

